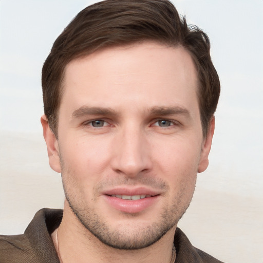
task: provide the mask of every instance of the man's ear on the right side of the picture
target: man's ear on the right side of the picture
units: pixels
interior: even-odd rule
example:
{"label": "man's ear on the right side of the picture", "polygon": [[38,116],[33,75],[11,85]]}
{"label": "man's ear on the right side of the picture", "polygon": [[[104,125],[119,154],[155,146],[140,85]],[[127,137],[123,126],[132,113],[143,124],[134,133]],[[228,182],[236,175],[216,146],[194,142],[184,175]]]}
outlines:
{"label": "man's ear on the right side of the picture", "polygon": [[210,149],[211,149],[214,130],[215,130],[215,117],[213,116],[209,124],[208,133],[203,142],[202,152],[201,152],[200,161],[198,165],[198,173],[202,173],[208,167],[208,164],[209,164],[208,156],[209,156]]}

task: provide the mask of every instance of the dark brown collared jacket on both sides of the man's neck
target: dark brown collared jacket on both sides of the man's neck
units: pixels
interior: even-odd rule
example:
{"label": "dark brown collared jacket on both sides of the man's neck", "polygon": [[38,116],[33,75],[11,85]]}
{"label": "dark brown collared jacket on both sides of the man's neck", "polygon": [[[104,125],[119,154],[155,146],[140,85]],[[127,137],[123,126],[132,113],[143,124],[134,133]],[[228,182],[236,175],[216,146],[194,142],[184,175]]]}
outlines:
{"label": "dark brown collared jacket on both sides of the man's neck", "polygon": [[[50,234],[59,227],[61,209],[37,212],[23,235],[0,235],[0,263],[60,263]],[[176,229],[175,263],[222,263],[192,246],[189,239]]]}

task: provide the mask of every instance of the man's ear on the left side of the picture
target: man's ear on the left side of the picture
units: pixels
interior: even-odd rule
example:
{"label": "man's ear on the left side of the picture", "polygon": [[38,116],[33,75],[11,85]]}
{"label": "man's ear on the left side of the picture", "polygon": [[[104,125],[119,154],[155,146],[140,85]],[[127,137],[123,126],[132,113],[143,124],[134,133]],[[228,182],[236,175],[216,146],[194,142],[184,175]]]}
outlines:
{"label": "man's ear on the left side of the picture", "polygon": [[55,172],[61,173],[58,140],[49,127],[46,115],[41,117],[41,124],[43,127],[43,136],[47,144],[49,165]]}

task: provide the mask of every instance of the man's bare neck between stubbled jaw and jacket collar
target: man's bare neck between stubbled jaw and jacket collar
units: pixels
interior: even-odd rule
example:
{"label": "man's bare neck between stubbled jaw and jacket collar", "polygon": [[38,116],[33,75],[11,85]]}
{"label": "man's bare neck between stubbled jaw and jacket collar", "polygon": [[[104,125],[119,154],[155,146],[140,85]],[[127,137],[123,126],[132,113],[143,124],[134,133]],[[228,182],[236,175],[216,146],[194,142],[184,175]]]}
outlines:
{"label": "man's bare neck between stubbled jaw and jacket collar", "polygon": [[70,208],[65,206],[60,227],[53,233],[52,238],[61,263],[170,263],[175,229],[176,227],[168,231],[159,241],[147,248],[119,250],[102,243],[83,226]]}

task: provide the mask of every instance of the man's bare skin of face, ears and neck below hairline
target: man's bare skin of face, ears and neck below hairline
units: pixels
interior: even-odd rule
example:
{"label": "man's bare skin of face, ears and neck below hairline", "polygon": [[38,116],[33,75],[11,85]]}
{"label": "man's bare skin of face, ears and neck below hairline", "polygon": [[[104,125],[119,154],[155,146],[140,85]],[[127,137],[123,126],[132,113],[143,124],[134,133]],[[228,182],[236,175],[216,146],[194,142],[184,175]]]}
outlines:
{"label": "man's bare skin of face, ears and neck below hairline", "polygon": [[[64,263],[170,262],[214,132],[212,119],[202,136],[197,86],[190,54],[153,42],[66,66],[58,140],[41,119],[66,196],[58,229]],[[151,197],[123,201],[114,193]]]}

